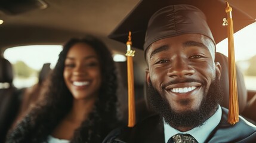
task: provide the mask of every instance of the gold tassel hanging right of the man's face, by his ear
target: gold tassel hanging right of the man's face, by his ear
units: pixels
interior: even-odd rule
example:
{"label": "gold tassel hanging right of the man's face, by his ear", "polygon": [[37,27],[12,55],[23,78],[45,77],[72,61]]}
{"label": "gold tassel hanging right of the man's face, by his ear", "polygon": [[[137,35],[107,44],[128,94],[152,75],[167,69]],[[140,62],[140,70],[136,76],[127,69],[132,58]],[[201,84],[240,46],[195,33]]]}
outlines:
{"label": "gold tassel hanging right of the man's face, by his ear", "polygon": [[235,49],[233,37],[233,20],[232,8],[226,2],[227,13],[227,38],[229,43],[229,116],[227,121],[234,125],[239,122],[239,108],[238,108],[238,88],[236,85],[236,64],[235,64]]}

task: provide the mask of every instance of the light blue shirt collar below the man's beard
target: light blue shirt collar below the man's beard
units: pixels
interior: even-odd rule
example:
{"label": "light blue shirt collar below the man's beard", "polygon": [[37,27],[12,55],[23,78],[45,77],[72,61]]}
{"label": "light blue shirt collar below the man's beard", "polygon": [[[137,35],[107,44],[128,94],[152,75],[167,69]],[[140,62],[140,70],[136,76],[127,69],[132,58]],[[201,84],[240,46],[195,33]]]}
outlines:
{"label": "light blue shirt collar below the man's beard", "polygon": [[221,107],[218,105],[217,111],[211,117],[209,117],[209,119],[206,120],[202,126],[193,128],[187,132],[180,132],[179,130],[172,128],[164,120],[165,143],[168,142],[168,139],[171,138],[171,136],[176,135],[177,133],[189,133],[199,143],[205,142],[205,140],[208,138],[208,135],[212,132],[212,130],[214,130],[218,123],[220,123],[221,114]]}

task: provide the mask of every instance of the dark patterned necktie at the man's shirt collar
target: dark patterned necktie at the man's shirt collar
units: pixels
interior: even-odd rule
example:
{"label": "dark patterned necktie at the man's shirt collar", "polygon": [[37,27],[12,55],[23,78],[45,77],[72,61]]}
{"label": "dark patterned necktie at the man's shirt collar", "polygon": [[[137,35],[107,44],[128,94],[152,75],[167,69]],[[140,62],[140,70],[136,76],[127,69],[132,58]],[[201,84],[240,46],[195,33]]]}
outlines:
{"label": "dark patterned necktie at the man's shirt collar", "polygon": [[198,141],[189,134],[178,133],[169,138],[167,143],[198,143]]}

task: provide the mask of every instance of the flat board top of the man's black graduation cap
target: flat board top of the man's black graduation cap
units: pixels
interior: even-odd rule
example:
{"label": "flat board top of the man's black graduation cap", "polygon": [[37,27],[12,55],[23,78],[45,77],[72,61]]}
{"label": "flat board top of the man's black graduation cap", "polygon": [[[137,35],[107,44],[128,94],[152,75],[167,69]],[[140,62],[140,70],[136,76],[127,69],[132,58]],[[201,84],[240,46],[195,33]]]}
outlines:
{"label": "flat board top of the man's black graduation cap", "polygon": [[[208,26],[211,29],[213,38],[211,38],[211,36],[207,34],[206,36],[208,36],[211,39],[214,39],[215,43],[218,43],[223,39],[227,38],[227,30],[226,30],[226,27],[223,26],[223,18],[227,17],[225,11],[223,11],[226,8],[226,4],[225,4],[225,1],[221,1],[221,0],[208,0],[208,1],[144,0],[144,1],[140,1],[139,4],[131,11],[131,13],[129,13],[128,16],[121,22],[121,24],[119,24],[119,26],[116,27],[116,29],[113,30],[112,33],[110,33],[109,38],[115,39],[116,41],[119,41],[119,42],[126,43],[128,32],[131,31],[132,46],[138,49],[143,49],[147,27],[148,27],[150,18],[152,18],[152,15],[155,14],[156,11],[168,5],[179,5],[179,4],[193,5],[196,8],[199,8],[199,10],[201,10],[205,14],[206,23],[208,23]],[[242,29],[243,27],[255,21],[254,18],[250,17],[246,13],[243,13],[243,11],[240,11],[233,6],[232,8],[233,8],[233,11],[232,11],[233,23],[235,25],[234,32],[237,32],[238,30]],[[177,8],[173,8],[172,10],[177,10]],[[193,11],[193,10],[181,11],[181,13],[189,13],[189,14],[192,14],[192,17],[193,17],[193,13],[196,13],[196,11]],[[184,19],[185,18],[183,18],[183,20]],[[195,18],[191,18],[190,20],[192,19],[195,20]],[[162,20],[161,14],[158,20],[160,20],[159,24],[161,25],[161,20]],[[198,20],[200,19],[198,18]],[[176,21],[173,21],[172,24],[173,25],[176,24],[175,22]],[[183,21],[182,23],[184,22],[186,23],[187,21]],[[202,20],[198,21],[198,23],[201,24]],[[200,26],[205,26],[205,24],[203,25],[201,24]],[[183,28],[186,27],[186,30],[189,30],[189,32],[193,32],[193,30],[198,30],[200,26],[190,28],[189,26],[184,24]],[[205,29],[202,28],[201,29],[202,34],[209,33],[209,32],[206,32],[206,30],[207,28]],[[149,45],[149,43],[145,43],[145,46],[147,45]]]}

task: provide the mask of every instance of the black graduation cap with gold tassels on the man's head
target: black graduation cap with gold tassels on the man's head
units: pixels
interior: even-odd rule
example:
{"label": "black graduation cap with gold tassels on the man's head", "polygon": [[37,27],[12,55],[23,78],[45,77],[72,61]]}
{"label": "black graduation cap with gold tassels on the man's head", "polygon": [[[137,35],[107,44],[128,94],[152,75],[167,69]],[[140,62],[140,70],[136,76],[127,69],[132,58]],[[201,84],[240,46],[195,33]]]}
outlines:
{"label": "black graduation cap with gold tassels on the man's head", "polygon": [[[110,33],[109,38],[131,46],[132,36],[132,46],[146,51],[151,43],[159,39],[186,33],[208,36],[214,43],[228,37],[230,81],[228,122],[233,125],[239,121],[233,33],[254,22],[254,18],[221,0],[144,0],[140,1]],[[128,52],[134,54],[130,48]],[[134,111],[134,107],[131,108]],[[134,117],[129,117],[132,118]],[[128,124],[128,126],[133,125]]]}

